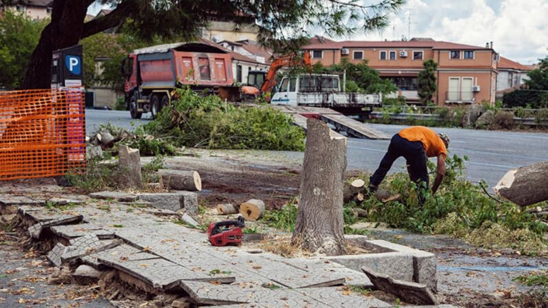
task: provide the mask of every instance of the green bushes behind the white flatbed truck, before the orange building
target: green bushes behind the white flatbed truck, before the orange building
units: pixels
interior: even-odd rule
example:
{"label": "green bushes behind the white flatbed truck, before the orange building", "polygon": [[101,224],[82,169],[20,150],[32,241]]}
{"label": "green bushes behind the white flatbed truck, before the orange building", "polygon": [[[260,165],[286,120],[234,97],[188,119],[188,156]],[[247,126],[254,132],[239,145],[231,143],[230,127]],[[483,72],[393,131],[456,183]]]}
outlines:
{"label": "green bushes behind the white flatbed truck, before the orange building", "polygon": [[329,67],[318,62],[312,70],[316,74],[341,74],[346,71],[347,92],[391,94],[398,91],[391,80],[380,78],[378,72],[367,65],[367,60],[354,64],[343,58],[341,63]]}

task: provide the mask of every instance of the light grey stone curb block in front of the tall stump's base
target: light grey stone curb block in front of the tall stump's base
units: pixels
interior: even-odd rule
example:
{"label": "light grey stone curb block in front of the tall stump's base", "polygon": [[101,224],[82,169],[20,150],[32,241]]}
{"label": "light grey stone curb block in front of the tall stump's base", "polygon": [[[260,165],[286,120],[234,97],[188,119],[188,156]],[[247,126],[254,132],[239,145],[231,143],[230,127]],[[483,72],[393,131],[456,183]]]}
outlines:
{"label": "light grey stone curb block in front of the tall stump's base", "polygon": [[365,267],[373,272],[387,274],[394,279],[413,281],[413,256],[405,252],[326,256],[321,259],[341,263],[356,271],[361,271],[361,268]]}

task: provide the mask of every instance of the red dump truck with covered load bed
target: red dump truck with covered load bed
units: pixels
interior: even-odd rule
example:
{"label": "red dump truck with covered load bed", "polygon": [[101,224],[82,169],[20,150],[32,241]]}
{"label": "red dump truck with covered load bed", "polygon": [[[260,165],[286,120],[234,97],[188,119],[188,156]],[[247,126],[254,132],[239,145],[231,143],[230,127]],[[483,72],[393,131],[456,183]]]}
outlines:
{"label": "red dump truck with covered load bed", "polygon": [[172,90],[185,85],[205,94],[238,100],[240,88],[232,77],[232,58],[219,47],[205,43],[174,43],[134,50],[122,61],[125,102],[131,117],[152,118],[170,104]]}

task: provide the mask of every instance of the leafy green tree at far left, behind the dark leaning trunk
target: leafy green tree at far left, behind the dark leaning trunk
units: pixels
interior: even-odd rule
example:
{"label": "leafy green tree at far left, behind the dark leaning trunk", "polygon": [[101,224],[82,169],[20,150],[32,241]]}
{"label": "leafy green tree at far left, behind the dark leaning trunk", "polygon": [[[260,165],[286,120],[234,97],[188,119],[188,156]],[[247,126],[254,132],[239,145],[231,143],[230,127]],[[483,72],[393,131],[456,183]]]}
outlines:
{"label": "leafy green tree at far left, behind the dark leaning trunk", "polygon": [[40,33],[48,20],[37,21],[13,10],[0,17],[0,89],[17,89]]}

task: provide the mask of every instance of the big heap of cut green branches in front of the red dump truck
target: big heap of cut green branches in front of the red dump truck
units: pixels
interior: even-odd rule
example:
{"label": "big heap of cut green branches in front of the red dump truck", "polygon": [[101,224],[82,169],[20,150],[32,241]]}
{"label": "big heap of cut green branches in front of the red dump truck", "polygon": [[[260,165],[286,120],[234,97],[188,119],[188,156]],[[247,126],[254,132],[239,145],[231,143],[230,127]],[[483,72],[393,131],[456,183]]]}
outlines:
{"label": "big heap of cut green branches in front of the red dump truck", "polygon": [[[200,96],[179,89],[178,97],[143,133],[173,146],[303,151],[303,130],[270,107],[236,107],[218,96]],[[139,146],[139,149],[141,147]]]}

